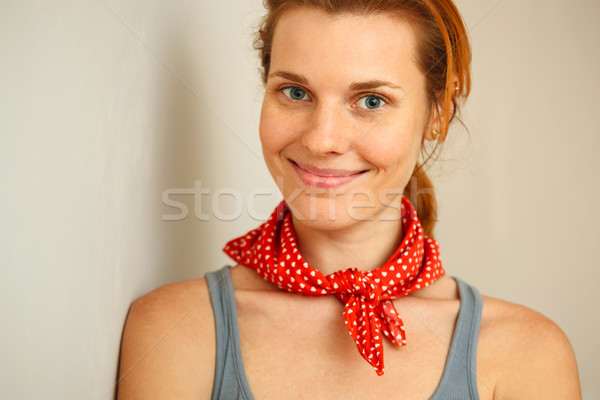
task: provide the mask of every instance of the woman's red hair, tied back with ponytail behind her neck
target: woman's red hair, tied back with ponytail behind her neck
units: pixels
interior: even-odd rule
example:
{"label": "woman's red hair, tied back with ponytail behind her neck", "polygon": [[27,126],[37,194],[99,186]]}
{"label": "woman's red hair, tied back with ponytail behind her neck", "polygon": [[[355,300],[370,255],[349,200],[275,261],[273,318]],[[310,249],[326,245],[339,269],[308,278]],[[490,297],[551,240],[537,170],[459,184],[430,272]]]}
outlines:
{"label": "woman's red hair, tied back with ponytail behind her neck", "polygon": [[[471,91],[471,47],[463,20],[451,0],[264,0],[264,5],[267,15],[255,41],[264,83],[269,76],[275,27],[290,8],[309,7],[334,15],[390,13],[410,22],[417,34],[417,59],[426,81],[430,112],[441,122],[438,144],[445,140],[450,123],[459,112],[459,102]],[[430,157],[421,164],[417,162],[404,196],[416,208],[425,234],[433,237],[437,203],[433,185],[423,170]]]}

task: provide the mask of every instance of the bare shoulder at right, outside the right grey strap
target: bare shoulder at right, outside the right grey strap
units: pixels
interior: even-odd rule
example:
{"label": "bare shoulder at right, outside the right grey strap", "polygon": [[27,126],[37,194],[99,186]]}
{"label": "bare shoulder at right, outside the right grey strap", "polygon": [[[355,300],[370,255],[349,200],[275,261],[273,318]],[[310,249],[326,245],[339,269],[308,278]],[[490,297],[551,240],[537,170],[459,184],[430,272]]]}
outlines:
{"label": "bare shoulder at right, outside the right grey strap", "polygon": [[525,306],[483,298],[478,363],[495,370],[494,398],[581,399],[575,354],[562,329]]}

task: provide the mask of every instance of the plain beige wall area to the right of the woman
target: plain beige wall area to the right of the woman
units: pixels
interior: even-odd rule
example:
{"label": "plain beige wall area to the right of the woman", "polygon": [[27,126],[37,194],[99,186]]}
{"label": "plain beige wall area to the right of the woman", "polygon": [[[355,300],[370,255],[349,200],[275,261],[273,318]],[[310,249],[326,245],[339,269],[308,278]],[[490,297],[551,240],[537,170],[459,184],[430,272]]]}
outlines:
{"label": "plain beige wall area to the right of the woman", "polygon": [[457,4],[474,52],[472,143],[456,130],[457,161],[438,178],[445,265],[556,321],[584,398],[600,399],[600,3]]}

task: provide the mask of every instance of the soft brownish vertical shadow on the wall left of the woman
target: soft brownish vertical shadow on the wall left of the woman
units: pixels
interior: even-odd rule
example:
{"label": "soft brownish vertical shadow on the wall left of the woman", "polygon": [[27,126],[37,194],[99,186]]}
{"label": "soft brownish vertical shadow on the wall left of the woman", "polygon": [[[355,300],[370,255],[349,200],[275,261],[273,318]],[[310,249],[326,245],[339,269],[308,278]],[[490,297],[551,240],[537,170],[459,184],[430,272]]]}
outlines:
{"label": "soft brownish vertical shadow on the wall left of the woman", "polygon": [[[154,270],[148,271],[152,277],[143,279],[149,285],[145,290],[203,275],[198,268],[202,243],[211,235],[211,224],[200,223],[194,217],[196,208],[207,208],[208,205],[194,204],[194,196],[184,193],[193,188],[195,180],[210,175],[214,168],[211,156],[214,150],[211,150],[208,135],[210,111],[197,97],[202,90],[193,80],[193,75],[198,72],[192,70],[194,64],[189,59],[185,40],[181,35],[173,35],[166,50],[160,54],[168,67],[163,67],[157,82],[156,92],[161,99],[156,110],[159,116],[154,119],[160,126],[154,130],[154,151],[148,155],[153,157],[149,163],[153,166],[150,174],[153,196],[147,199],[155,205],[154,217],[160,221],[150,224],[159,229],[157,242],[160,249],[153,249],[153,253],[160,259],[155,261]],[[165,205],[164,193],[169,191],[173,192],[169,197],[171,200],[183,204],[180,207],[184,210],[187,208],[187,216],[173,219],[180,211]],[[119,374],[117,366],[114,399],[117,399]]]}

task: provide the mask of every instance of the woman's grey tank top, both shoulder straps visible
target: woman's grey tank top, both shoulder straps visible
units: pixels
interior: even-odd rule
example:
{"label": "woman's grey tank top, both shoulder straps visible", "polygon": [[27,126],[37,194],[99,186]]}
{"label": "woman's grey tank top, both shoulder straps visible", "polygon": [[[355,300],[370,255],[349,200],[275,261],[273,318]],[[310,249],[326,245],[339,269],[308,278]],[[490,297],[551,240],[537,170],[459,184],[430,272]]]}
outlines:
{"label": "woman's grey tank top, both shoulder straps visible", "polygon": [[[211,400],[254,400],[240,349],[229,266],[206,275],[215,314],[216,366]],[[442,379],[430,400],[479,400],[475,376],[483,300],[474,287],[458,283],[460,310]]]}

